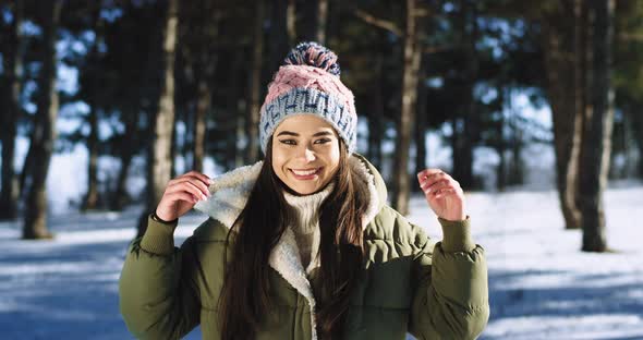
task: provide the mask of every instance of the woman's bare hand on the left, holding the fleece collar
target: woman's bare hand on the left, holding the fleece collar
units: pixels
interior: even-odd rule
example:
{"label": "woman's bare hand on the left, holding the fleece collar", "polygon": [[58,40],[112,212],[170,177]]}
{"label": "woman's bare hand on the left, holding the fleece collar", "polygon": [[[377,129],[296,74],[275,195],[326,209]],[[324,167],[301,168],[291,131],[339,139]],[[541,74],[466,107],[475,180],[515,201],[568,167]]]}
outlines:
{"label": "woman's bare hand on the left, holding the fleece collar", "polygon": [[156,207],[156,216],[166,221],[178,219],[190,211],[197,202],[210,196],[210,178],[197,171],[190,171],[170,180]]}

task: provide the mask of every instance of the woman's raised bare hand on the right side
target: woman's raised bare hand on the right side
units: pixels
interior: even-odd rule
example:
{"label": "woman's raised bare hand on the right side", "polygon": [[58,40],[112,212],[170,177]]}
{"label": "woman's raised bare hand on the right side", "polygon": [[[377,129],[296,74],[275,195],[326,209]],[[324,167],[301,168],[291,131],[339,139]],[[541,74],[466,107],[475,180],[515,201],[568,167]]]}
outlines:
{"label": "woman's raised bare hand on the right side", "polygon": [[438,217],[449,221],[466,219],[464,192],[448,173],[439,169],[425,169],[417,173],[417,182],[428,206]]}

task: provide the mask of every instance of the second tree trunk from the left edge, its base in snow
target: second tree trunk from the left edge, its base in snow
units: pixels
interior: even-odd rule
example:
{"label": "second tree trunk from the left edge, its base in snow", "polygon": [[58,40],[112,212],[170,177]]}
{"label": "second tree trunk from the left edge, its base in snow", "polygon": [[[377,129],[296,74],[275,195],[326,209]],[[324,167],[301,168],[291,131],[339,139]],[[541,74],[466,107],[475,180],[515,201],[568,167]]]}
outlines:
{"label": "second tree trunk from the left edge, its base in snow", "polygon": [[33,163],[32,185],[26,196],[23,239],[51,239],[47,228],[47,173],[56,142],[56,119],[58,116],[58,92],[56,89],[56,41],[62,1],[47,1],[43,5],[43,69],[38,87],[38,111],[32,135]]}

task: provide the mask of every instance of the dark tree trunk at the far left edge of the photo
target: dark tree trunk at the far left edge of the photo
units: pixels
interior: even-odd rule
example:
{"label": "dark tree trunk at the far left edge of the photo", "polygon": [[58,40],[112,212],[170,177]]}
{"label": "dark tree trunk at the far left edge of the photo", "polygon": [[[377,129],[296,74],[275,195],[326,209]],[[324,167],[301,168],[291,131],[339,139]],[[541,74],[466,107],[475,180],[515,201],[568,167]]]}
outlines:
{"label": "dark tree trunk at the far left edge of the photo", "polygon": [[17,217],[19,186],[13,159],[17,118],[21,116],[20,94],[22,90],[22,35],[20,25],[23,20],[23,2],[14,1],[13,21],[9,28],[8,46],[3,51],[4,77],[7,80],[7,110],[1,113],[3,129],[0,132],[2,143],[2,193],[0,194],[0,220]]}

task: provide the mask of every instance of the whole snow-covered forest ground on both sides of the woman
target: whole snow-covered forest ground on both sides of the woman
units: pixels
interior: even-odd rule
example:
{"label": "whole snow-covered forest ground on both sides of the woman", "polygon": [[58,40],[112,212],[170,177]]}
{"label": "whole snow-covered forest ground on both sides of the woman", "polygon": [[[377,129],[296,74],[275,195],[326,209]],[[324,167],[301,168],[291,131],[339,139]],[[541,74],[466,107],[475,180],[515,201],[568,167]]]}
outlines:
{"label": "whole snow-covered forest ground on both sides of the woman", "polygon": [[[605,195],[610,254],[580,252],[553,191],[468,194],[474,236],[487,252],[492,318],[481,339],[643,339],[643,184]],[[441,232],[422,197],[410,219]],[[0,338],[130,339],[118,278],[139,210],[51,218],[54,241],[21,241],[0,223]],[[180,220],[178,243],[204,220]],[[198,329],[187,339],[199,339]]]}

